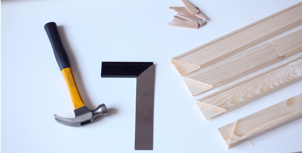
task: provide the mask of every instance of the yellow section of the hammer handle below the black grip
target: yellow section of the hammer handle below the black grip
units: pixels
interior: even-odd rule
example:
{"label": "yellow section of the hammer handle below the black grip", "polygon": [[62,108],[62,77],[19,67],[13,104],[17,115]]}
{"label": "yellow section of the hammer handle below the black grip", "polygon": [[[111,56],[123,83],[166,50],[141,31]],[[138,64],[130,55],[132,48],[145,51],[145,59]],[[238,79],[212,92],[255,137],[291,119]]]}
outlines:
{"label": "yellow section of the hammer handle below the black grip", "polygon": [[61,70],[61,72],[67,84],[74,109],[85,106],[78,90],[77,84],[75,83],[71,67],[64,68]]}

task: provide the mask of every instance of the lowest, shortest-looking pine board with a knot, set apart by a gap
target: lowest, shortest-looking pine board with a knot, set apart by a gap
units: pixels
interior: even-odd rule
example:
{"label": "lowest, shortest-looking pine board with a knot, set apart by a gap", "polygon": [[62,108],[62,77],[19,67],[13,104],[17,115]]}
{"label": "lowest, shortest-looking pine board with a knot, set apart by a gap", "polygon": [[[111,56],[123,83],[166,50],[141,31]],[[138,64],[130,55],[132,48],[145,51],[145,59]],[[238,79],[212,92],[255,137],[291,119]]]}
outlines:
{"label": "lowest, shortest-looking pine board with a knot, set apart by a gap", "polygon": [[228,148],[302,117],[302,93],[255,112],[218,130]]}

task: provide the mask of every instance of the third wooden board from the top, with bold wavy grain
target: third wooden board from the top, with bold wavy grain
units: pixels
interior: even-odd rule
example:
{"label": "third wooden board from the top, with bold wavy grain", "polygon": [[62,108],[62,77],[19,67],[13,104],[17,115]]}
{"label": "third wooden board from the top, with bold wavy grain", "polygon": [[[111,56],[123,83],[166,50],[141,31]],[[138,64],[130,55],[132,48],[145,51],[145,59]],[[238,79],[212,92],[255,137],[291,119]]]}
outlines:
{"label": "third wooden board from the top, with bold wavy grain", "polygon": [[302,79],[302,55],[196,100],[205,119],[227,113]]}

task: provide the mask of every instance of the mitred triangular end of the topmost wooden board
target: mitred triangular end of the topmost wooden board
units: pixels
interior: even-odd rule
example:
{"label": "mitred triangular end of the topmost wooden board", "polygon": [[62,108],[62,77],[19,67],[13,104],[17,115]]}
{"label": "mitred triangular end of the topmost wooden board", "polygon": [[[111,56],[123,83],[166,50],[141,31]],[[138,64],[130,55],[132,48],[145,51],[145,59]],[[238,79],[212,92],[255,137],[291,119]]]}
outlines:
{"label": "mitred triangular end of the topmost wooden board", "polygon": [[191,64],[186,64],[186,63],[181,63],[176,60],[172,60],[171,63],[175,66],[177,71],[181,76],[184,76],[186,74],[189,74],[191,72],[199,70],[201,67],[197,65],[191,65]]}

